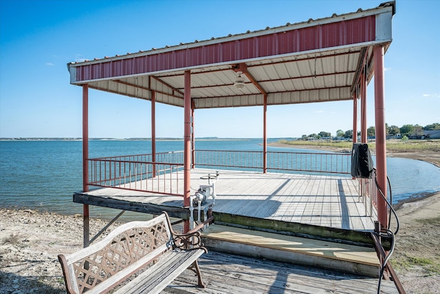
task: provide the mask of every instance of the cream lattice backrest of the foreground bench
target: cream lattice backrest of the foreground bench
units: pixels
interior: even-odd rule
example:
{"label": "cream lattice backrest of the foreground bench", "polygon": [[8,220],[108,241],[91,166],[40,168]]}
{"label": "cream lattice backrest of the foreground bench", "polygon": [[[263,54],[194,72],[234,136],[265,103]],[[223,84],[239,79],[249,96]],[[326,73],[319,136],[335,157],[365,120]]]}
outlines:
{"label": "cream lattice backrest of the foreground bench", "polygon": [[164,213],[146,222],[122,224],[100,242],[66,257],[58,255],[58,259],[67,292],[81,294],[120,284],[172,246],[169,220]]}

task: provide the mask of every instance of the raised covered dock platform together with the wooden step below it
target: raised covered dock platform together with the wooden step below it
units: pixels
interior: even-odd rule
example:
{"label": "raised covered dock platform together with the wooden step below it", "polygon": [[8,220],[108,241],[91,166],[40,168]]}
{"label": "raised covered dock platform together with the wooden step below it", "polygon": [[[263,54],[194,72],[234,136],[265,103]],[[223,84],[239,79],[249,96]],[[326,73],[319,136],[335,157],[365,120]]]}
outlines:
{"label": "raised covered dock platform together with the wooden step below it", "polygon": [[[360,198],[358,180],[196,168],[191,193],[217,171],[216,196],[201,206],[201,221],[208,207],[214,216],[214,224],[202,231],[210,251],[378,277],[380,261],[370,235],[377,216],[374,209],[369,215]],[[190,218],[180,196],[106,187],[77,192],[74,202]],[[195,220],[197,215],[195,206]]]}

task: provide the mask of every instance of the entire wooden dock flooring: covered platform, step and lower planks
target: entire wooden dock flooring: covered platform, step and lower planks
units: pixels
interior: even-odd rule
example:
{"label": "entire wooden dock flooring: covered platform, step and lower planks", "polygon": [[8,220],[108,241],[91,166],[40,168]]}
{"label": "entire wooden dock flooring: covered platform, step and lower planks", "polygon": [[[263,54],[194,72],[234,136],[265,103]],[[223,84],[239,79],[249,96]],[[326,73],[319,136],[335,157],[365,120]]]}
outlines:
{"label": "entire wooden dock flooring: covered platform, step and lower planks", "polygon": [[[191,194],[197,191],[199,185],[208,185],[208,180],[201,179],[208,174],[216,174],[216,170],[191,170]],[[376,216],[369,216],[360,200],[357,180],[340,176],[250,171],[220,170],[219,174],[213,207],[216,224],[203,231],[204,242],[211,250],[199,261],[208,288],[194,286],[195,277],[186,271],[162,293],[377,291],[380,263],[374,249],[347,246],[342,244],[344,241],[331,243],[333,239],[339,239],[338,236],[350,233],[364,234],[365,240],[368,232],[373,230]],[[74,202],[83,204],[150,214],[168,211],[170,216],[188,218],[188,208],[182,207],[182,200],[180,196],[114,188],[74,194]],[[208,207],[210,203],[211,198],[203,207]],[[241,231],[247,227],[258,227],[254,223],[252,226],[240,223],[249,220],[261,224],[261,233]],[[300,228],[300,233],[281,229],[281,235],[270,235],[271,231],[274,233],[272,228],[281,227],[281,223],[287,229],[297,226],[295,230]],[[221,224],[232,226],[223,230]],[[317,230],[330,233],[315,234]],[[307,234],[318,238],[300,240],[295,237]],[[356,243],[351,238],[345,240]],[[360,243],[366,244],[364,240]],[[265,244],[267,242],[270,244]],[[245,254],[241,254],[243,252]],[[393,282],[382,281],[382,293],[397,293]]]}

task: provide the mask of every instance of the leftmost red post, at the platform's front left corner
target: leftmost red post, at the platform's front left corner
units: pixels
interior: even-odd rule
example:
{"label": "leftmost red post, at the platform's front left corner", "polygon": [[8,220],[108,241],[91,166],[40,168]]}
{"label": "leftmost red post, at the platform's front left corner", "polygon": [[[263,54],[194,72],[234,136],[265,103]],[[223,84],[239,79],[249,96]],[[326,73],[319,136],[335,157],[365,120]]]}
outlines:
{"label": "leftmost red post, at the platform's front left corner", "polygon": [[[83,85],[83,191],[89,191],[89,85]],[[83,246],[89,246],[89,205],[83,204]]]}

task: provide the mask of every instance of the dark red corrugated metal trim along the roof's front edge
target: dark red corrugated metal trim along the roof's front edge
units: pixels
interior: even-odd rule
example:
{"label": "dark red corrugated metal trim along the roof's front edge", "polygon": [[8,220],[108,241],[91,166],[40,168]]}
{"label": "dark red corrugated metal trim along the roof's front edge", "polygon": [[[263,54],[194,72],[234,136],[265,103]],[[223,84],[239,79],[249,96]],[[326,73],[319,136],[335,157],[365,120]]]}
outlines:
{"label": "dark red corrugated metal trim along the roof's front edge", "polygon": [[[375,15],[194,48],[76,66],[76,83],[218,63],[236,63],[375,41]],[[74,82],[74,83],[75,83]]]}

